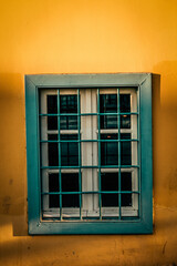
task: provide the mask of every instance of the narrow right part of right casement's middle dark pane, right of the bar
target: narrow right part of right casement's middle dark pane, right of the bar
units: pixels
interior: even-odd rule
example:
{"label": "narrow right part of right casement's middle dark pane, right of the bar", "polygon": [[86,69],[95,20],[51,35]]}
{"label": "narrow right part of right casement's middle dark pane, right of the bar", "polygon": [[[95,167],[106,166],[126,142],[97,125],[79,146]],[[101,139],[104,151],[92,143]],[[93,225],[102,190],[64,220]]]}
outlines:
{"label": "narrow right part of right casement's middle dark pane, right of the bar", "polygon": [[[131,139],[129,133],[122,133],[122,140]],[[122,165],[131,165],[132,164],[132,142],[121,142],[121,164]]]}

